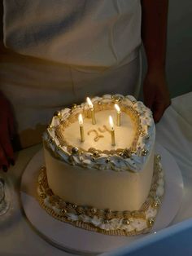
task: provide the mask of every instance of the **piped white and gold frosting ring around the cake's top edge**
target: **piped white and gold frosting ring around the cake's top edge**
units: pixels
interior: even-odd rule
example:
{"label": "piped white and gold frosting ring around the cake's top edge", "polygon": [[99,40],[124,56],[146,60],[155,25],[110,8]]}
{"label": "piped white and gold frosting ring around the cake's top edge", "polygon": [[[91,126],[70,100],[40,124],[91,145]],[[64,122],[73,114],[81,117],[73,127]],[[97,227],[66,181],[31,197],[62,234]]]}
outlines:
{"label": "piped white and gold frosting ring around the cake's top edge", "polygon": [[142,170],[155,138],[155,124],[151,110],[131,95],[103,95],[103,97],[94,97],[92,102],[96,112],[111,108],[111,105],[118,103],[120,108],[133,118],[137,131],[131,148],[118,148],[114,151],[103,152],[97,148],[89,148],[85,151],[83,148],[72,147],[65,141],[63,127],[68,126],[70,121],[76,120],[80,113],[89,116],[87,103],[76,105],[73,108],[64,108],[55,113],[43,135],[46,148],[61,161],[84,168],[132,172]]}

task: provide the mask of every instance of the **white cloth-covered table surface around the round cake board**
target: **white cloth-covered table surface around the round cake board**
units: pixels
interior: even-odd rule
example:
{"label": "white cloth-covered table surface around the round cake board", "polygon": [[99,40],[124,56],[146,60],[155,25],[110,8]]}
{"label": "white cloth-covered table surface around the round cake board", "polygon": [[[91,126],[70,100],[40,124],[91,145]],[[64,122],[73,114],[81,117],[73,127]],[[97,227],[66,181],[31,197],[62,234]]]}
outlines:
{"label": "white cloth-covered table surface around the round cake board", "polygon": [[[184,181],[184,198],[172,224],[192,218],[192,92],[172,99],[172,105],[156,126],[157,141],[172,154]],[[15,192],[14,209],[7,222],[0,218],[0,255],[72,255],[44,241],[30,226],[20,206],[20,177],[41,144],[17,153],[16,164],[8,171]]]}

